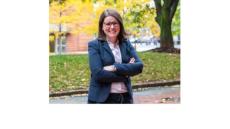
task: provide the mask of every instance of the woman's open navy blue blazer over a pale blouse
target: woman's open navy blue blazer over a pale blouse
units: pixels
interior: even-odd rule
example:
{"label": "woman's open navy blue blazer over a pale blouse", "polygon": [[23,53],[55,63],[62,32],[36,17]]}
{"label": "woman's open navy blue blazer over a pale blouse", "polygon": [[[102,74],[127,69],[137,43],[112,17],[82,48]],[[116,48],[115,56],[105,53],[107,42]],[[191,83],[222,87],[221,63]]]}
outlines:
{"label": "woman's open navy blue blazer over a pale blouse", "polygon": [[[95,39],[88,43],[89,66],[91,71],[88,100],[95,102],[105,102],[110,94],[112,82],[124,82],[130,99],[133,102],[133,92],[130,76],[142,72],[143,63],[137,56],[137,53],[128,40],[123,40],[119,44],[122,63],[115,63],[113,53],[107,41]],[[135,63],[129,64],[130,59],[134,57]],[[116,72],[103,70],[104,66],[114,65]]]}

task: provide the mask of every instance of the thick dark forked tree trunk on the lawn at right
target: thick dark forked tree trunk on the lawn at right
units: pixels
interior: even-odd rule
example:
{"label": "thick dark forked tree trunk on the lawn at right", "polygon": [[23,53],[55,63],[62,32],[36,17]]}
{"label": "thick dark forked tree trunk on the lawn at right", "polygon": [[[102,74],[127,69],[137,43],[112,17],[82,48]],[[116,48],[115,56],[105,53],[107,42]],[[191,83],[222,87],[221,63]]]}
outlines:
{"label": "thick dark forked tree trunk on the lawn at right", "polygon": [[179,0],[154,0],[157,16],[156,22],[161,29],[160,49],[162,51],[171,51],[174,48],[173,36],[172,36],[172,19],[177,10]]}

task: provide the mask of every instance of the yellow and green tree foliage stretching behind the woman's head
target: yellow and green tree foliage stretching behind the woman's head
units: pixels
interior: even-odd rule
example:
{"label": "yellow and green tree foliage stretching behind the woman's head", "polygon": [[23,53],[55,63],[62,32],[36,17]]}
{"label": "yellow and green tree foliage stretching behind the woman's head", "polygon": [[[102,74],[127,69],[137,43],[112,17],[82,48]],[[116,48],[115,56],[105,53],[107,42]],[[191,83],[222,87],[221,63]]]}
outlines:
{"label": "yellow and green tree foliage stretching behind the woman's head", "polygon": [[[96,35],[102,11],[115,8],[122,16],[128,34],[140,36],[143,28],[149,28],[155,37],[159,37],[160,27],[154,20],[156,9],[150,3],[154,5],[152,0],[50,0],[49,22],[65,26],[71,34]],[[52,33],[58,37],[63,32]]]}

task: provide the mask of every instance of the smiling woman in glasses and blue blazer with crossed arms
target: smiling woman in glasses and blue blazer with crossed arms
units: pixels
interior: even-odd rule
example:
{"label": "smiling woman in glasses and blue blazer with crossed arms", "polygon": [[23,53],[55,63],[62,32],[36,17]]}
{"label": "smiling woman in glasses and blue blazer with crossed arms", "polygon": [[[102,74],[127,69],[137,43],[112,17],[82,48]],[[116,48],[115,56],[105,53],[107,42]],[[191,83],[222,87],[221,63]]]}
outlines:
{"label": "smiling woman in glasses and blue blazer with crossed arms", "polygon": [[88,43],[91,80],[88,103],[133,103],[130,76],[142,72],[120,14],[106,9],[99,19],[99,36]]}

